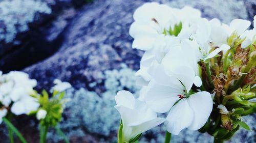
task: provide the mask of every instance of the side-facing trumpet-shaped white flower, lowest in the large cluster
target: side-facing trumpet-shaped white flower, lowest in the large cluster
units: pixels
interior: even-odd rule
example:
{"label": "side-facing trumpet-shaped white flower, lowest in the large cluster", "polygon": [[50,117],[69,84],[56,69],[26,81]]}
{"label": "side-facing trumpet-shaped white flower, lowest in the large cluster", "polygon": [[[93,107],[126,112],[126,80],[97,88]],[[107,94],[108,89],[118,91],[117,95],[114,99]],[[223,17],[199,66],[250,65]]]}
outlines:
{"label": "side-facing trumpet-shaped white flower, lowest in the large cluster", "polygon": [[135,99],[128,91],[119,91],[115,100],[117,104],[115,108],[122,118],[123,141],[129,141],[165,121],[157,118],[156,112],[148,108],[145,102]]}

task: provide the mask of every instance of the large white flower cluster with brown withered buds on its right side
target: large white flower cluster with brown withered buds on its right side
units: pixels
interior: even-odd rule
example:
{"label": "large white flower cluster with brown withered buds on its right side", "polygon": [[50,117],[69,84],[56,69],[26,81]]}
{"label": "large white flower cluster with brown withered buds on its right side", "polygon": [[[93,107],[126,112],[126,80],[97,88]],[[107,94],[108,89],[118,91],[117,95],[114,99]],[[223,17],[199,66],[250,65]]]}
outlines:
{"label": "large white flower cluster with brown withered buds on its right side", "polygon": [[[247,128],[241,117],[256,108],[250,101],[256,82],[256,28],[247,30],[250,21],[227,25],[202,18],[197,9],[158,3],[142,5],[133,17],[132,47],[145,51],[136,73],[143,88],[138,99],[127,91],[116,96],[119,142],[134,142],[162,122],[172,134],[200,129],[221,140]],[[165,112],[166,119],[156,117]]]}

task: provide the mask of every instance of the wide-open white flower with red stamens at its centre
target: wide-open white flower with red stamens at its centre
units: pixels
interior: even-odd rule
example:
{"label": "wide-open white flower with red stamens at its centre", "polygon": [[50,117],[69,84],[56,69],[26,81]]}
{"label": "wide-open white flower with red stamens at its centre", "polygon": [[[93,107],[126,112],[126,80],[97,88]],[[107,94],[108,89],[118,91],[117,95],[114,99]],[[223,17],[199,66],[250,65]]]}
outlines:
{"label": "wide-open white flower with red stamens at its centre", "polygon": [[[200,129],[207,121],[212,110],[212,99],[208,92],[189,94],[194,82],[191,68],[177,67],[180,73],[168,75],[159,66],[148,84],[145,96],[147,105],[156,112],[167,112],[167,131],[173,134],[188,128]],[[177,102],[177,103],[176,103]]]}

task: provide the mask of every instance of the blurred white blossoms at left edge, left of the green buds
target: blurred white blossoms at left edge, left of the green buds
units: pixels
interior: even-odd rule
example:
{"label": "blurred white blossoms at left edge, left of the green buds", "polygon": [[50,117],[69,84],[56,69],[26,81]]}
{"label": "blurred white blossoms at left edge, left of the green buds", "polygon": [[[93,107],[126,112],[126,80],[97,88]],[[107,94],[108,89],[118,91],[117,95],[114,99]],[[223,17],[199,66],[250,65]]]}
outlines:
{"label": "blurred white blossoms at left edge, left of the green buds", "polygon": [[28,74],[24,72],[11,71],[7,74],[1,74],[0,120],[7,115],[9,109],[14,115],[28,114],[30,111],[36,110],[39,103],[36,98],[30,96],[35,93],[33,88],[36,84],[36,80],[30,79]]}

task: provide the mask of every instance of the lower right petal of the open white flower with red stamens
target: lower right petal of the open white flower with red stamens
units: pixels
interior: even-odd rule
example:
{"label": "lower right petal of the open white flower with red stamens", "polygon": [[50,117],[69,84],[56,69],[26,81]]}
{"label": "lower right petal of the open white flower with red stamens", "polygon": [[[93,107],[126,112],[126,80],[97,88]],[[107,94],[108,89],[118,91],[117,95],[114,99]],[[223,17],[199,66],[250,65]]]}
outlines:
{"label": "lower right petal of the open white flower with red stamens", "polygon": [[192,124],[188,127],[190,130],[198,130],[206,123],[212,110],[212,99],[208,92],[198,92],[187,98],[190,108],[194,112]]}

